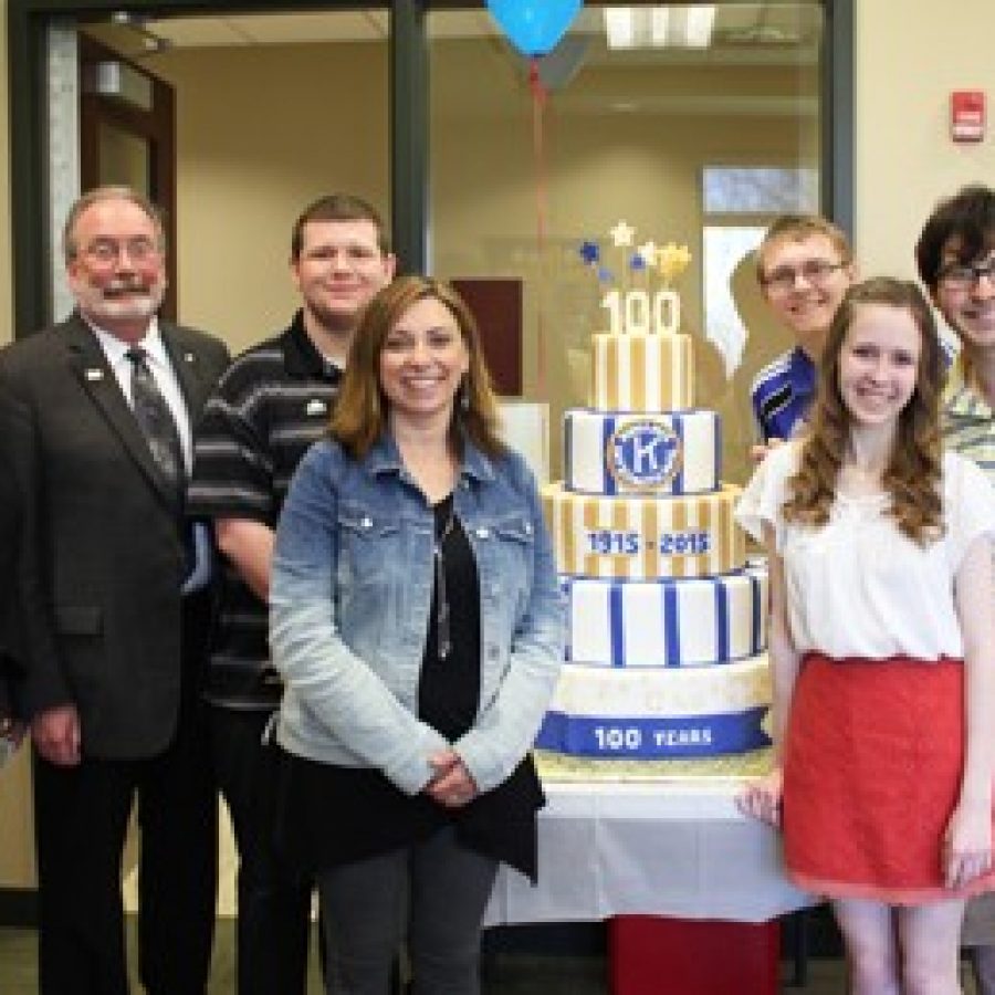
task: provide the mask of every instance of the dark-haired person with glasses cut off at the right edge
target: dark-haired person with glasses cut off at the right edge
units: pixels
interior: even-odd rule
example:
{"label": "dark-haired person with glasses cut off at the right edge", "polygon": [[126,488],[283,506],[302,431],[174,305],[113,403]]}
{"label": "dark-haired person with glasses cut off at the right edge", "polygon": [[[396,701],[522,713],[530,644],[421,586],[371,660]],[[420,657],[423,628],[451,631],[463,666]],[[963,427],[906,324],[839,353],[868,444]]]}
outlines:
{"label": "dark-haired person with glasses cut off at the right edge", "polygon": [[[915,245],[919,275],[961,341],[943,398],[943,437],[995,483],[995,190],[965,187],[941,201]],[[995,894],[973,900],[962,942],[980,995],[995,995]]]}

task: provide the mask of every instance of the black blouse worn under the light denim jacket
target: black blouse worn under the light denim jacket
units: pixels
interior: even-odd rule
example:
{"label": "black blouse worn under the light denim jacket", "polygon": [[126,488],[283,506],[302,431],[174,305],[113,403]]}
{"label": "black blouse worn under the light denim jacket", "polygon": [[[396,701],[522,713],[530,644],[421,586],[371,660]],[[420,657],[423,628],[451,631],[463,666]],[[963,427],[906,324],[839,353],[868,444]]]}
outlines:
{"label": "black blouse worn under the light denim jacket", "polygon": [[[439,553],[418,718],[454,742],[472,727],[480,705],[480,583],[470,541],[453,515],[452,495],[433,511]],[[448,605],[448,625],[440,625],[440,601]],[[443,656],[440,647],[447,641]],[[531,756],[503,784],[450,809],[425,793],[406,795],[377,769],[281,753],[277,844],[306,873],[425,840],[452,824],[465,846],[535,879],[535,813],[545,797]]]}

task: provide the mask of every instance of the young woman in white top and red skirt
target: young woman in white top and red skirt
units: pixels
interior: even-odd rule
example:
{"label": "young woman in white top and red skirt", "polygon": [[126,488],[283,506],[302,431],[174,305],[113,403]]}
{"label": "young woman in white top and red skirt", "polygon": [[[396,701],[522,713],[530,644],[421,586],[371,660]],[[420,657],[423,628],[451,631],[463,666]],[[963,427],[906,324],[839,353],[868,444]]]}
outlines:
{"label": "young woman in white top and red skirt", "polygon": [[857,284],[810,433],[739,509],[769,555],[775,725],[741,806],[831,900],[853,995],[960,992],[965,900],[995,890],[995,493],[942,451],[942,376],[915,285]]}

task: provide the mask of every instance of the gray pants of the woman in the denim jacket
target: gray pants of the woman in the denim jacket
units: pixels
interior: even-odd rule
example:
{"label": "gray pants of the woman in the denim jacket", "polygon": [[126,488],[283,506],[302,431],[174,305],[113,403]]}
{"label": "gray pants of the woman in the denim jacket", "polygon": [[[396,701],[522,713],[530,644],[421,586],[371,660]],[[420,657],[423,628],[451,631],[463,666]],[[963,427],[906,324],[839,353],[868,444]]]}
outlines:
{"label": "gray pants of the woman in the denim jacket", "polygon": [[480,933],[498,865],[451,828],[317,874],[328,995],[389,995],[407,938],[415,995],[478,995]]}

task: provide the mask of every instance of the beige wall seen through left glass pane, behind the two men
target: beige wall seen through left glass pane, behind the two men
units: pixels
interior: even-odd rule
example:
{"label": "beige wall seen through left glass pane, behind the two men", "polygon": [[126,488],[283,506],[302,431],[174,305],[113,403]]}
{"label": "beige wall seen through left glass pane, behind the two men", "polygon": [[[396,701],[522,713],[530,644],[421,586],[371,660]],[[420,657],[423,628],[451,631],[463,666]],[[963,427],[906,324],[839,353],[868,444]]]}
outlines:
{"label": "beige wall seen through left glass pane, behind the two men", "polygon": [[305,203],[348,190],[386,210],[387,46],[186,50],[148,64],[176,84],[179,314],[241,349],[296,306],[286,263]]}

